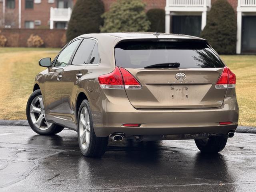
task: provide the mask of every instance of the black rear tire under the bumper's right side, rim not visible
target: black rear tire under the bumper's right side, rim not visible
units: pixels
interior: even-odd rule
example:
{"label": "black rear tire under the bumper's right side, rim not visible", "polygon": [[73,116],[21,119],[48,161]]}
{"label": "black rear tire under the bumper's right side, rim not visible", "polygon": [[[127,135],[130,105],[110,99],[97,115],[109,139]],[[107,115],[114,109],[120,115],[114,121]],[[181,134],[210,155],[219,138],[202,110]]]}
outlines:
{"label": "black rear tire under the bumper's right side, rim not visible", "polygon": [[228,138],[209,137],[207,139],[195,140],[197,148],[203,153],[218,153],[226,146]]}

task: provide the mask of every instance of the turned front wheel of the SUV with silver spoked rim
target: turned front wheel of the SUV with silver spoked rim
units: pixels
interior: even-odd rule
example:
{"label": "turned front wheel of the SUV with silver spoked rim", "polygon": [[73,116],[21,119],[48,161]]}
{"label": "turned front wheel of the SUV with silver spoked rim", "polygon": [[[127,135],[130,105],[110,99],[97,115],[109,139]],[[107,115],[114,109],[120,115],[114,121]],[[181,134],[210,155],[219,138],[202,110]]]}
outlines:
{"label": "turned front wheel of the SUV with silver spoked rim", "polygon": [[46,121],[41,90],[35,90],[28,98],[26,116],[32,130],[38,134],[53,135],[64,129]]}

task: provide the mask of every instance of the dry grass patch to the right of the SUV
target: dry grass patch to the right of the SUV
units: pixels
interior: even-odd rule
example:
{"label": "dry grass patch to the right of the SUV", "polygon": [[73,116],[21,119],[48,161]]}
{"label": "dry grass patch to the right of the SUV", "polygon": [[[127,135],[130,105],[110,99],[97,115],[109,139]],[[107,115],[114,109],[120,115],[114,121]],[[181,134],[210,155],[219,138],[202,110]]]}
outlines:
{"label": "dry grass patch to the right of the SUV", "polygon": [[256,55],[221,56],[236,74],[239,124],[256,126]]}

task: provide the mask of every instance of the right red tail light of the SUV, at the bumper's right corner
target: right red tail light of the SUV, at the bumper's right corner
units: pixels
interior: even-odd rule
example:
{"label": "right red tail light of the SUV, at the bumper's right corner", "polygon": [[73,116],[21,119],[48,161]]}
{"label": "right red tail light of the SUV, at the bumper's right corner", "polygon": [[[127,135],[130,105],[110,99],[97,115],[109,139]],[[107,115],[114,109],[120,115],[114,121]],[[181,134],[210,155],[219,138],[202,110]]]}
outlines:
{"label": "right red tail light of the SUV, at the bumper's right corner", "polygon": [[218,79],[215,88],[225,89],[225,88],[235,88],[236,87],[236,75],[231,72],[227,67],[223,68],[222,74]]}

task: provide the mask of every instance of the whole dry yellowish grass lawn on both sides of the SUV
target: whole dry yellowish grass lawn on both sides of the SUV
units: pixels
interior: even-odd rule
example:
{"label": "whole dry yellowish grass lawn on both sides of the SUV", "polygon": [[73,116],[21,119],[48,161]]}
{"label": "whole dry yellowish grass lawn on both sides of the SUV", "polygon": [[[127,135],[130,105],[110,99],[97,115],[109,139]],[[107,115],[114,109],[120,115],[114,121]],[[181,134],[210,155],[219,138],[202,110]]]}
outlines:
{"label": "whole dry yellowish grass lawn on both sides of the SUV", "polygon": [[[26,119],[26,102],[32,93],[38,65],[44,57],[54,58],[53,48],[0,48],[0,119]],[[256,56],[222,56],[236,74],[236,94],[240,108],[239,124],[256,126]]]}

